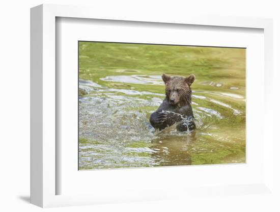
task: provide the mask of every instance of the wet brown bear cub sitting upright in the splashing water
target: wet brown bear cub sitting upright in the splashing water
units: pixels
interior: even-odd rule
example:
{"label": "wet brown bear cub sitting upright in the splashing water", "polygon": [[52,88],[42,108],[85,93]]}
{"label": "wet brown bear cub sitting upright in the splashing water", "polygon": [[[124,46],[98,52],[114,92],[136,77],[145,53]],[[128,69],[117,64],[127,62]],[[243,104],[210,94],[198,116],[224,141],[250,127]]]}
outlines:
{"label": "wet brown bear cub sitting upright in the splashing water", "polygon": [[195,76],[188,77],[167,76],[162,74],[165,84],[165,99],[156,112],[150,116],[150,122],[155,129],[162,130],[178,123],[178,131],[187,131],[195,128],[191,108],[191,84]]}

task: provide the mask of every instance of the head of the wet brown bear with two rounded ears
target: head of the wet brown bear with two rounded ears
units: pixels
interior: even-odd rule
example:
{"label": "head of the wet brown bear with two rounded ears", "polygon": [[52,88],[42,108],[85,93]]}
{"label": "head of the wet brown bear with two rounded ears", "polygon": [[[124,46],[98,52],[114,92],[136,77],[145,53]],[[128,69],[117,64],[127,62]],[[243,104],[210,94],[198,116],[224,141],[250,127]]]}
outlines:
{"label": "head of the wet brown bear with two rounded ears", "polygon": [[162,74],[162,80],[165,84],[166,100],[171,105],[183,106],[191,103],[191,84],[195,76],[190,74],[188,77],[167,76]]}

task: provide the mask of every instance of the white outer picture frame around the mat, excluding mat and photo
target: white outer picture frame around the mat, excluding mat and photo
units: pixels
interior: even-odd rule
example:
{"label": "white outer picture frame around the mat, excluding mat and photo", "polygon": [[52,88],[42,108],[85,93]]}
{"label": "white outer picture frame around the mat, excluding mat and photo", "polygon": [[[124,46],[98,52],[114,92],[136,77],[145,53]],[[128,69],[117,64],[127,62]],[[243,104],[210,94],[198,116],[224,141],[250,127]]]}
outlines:
{"label": "white outer picture frame around the mat, excluding mat and photo", "polygon": [[[257,28],[264,30],[264,99],[265,109],[271,109],[270,92],[268,86],[272,85],[272,20],[264,18],[247,17],[218,17],[218,16],[191,16],[178,14],[178,16],[166,17],[164,14],[157,16],[142,14],[141,12],[127,12],[121,16],[118,11],[110,11],[104,14],[97,8],[40,5],[31,9],[31,203],[41,207],[86,205],[109,202],[129,202],[143,200],[163,200],[174,198],[178,193],[182,198],[191,194],[205,194],[207,191],[213,194],[225,192],[244,195],[242,189],[250,193],[273,195],[273,137],[272,128],[264,126],[264,138],[266,142],[263,149],[264,177],[263,181],[254,184],[240,184],[232,186],[215,186],[209,188],[171,188],[162,194],[162,191],[135,192],[132,194],[118,195],[120,191],[107,193],[57,195],[56,178],[57,152],[55,140],[57,133],[55,128],[56,117],[56,87],[55,81],[55,18],[87,18],[106,20],[143,21],[171,24],[195,24],[222,26],[233,28]],[[272,123],[273,111],[265,110],[264,123]]]}

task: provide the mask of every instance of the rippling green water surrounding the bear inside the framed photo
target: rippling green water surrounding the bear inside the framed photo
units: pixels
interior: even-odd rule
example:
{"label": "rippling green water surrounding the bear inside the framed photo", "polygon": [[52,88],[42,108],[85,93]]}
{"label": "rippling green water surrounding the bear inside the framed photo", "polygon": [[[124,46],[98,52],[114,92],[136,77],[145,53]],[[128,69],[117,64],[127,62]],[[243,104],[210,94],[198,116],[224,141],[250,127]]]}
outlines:
{"label": "rippling green water surrounding the bear inside the framed photo", "polygon": [[[197,129],[154,131],[161,74],[195,74]],[[245,49],[79,42],[79,169],[245,163]]]}

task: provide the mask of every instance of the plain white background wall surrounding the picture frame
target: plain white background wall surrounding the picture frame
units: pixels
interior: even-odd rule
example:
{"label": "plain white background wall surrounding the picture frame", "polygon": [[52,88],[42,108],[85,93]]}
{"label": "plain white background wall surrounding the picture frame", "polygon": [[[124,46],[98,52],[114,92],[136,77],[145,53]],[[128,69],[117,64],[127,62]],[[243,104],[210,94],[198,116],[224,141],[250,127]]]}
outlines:
{"label": "plain white background wall surrounding the picture frame", "polygon": [[[279,98],[280,58],[280,14],[278,1],[6,1],[0,5],[0,52],[1,52],[1,104],[0,104],[0,138],[1,138],[1,175],[0,175],[0,209],[2,211],[37,211],[41,208],[29,204],[30,188],[30,8],[42,3],[91,5],[140,10],[143,13],[166,11],[167,16],[173,13],[204,13],[233,16],[274,18],[274,88],[271,87],[275,98]],[[276,71],[277,70],[277,71]],[[276,135],[279,112],[279,101],[275,100],[274,127]],[[257,131],[257,130],[256,130]],[[279,148],[274,145],[274,153]],[[275,154],[275,164],[279,166],[279,156]],[[276,167],[276,166],[275,166]],[[279,179],[279,168],[274,169]],[[274,182],[278,187],[279,183]],[[279,200],[280,198],[278,198]],[[273,203],[274,202],[274,203]],[[275,199],[266,199],[258,195],[250,198],[242,196],[223,196],[217,198],[200,198],[189,202],[161,201],[126,204],[109,204],[68,208],[51,208],[50,211],[279,211]]]}

